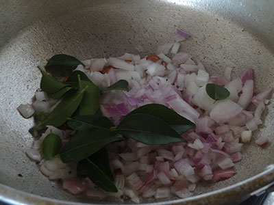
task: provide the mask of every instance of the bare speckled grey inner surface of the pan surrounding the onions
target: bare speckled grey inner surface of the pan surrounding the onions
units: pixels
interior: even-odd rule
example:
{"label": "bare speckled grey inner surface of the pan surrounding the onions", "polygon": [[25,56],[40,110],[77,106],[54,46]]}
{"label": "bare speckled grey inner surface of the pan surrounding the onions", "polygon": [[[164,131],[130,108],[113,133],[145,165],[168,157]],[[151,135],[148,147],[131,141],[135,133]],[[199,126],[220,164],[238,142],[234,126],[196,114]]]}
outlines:
{"label": "bare speckled grey inner surface of the pan surrounding the onions", "polygon": [[[191,4],[133,0],[82,1],[77,5],[75,1],[21,2],[24,4],[16,6],[26,13],[22,17],[26,18],[25,25],[19,25],[16,16],[11,17],[22,29],[8,30],[10,35],[0,33],[9,42],[1,42],[0,47],[0,182],[10,187],[59,200],[95,202],[62,191],[58,182],[42,176],[37,165],[25,155],[32,146],[33,137],[28,129],[33,122],[23,119],[16,107],[32,102],[40,83],[36,66],[57,53],[90,59],[138,53],[135,47],[142,46],[144,51],[140,54],[145,56],[155,53],[158,45],[173,42],[173,31],[179,27],[191,34],[182,51],[201,61],[210,74],[221,74],[225,66],[231,66],[235,77],[240,70],[253,68],[256,92],[273,86],[273,52],[265,46],[268,42],[262,35],[253,35],[248,25],[192,8]],[[236,176],[217,184],[202,183],[195,193],[227,187],[273,163],[272,143],[266,149],[254,143],[260,136],[273,141],[273,116],[271,102],[264,114],[264,124],[242,149],[243,159],[236,165]]]}

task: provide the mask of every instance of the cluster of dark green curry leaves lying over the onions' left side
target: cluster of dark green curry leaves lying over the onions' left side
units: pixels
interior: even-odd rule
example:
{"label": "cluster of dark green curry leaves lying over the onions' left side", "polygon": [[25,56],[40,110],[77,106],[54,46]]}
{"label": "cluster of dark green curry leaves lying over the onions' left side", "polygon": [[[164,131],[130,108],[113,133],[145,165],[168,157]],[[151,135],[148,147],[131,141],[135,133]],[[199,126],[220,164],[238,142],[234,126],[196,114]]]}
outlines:
{"label": "cluster of dark green curry leaves lying over the onions' left side", "polygon": [[[82,62],[70,55],[55,55],[49,59],[46,68],[73,70],[79,64]],[[41,72],[41,89],[51,98],[59,99],[60,103],[51,113],[37,113],[40,122],[30,131],[63,124],[75,131],[62,148],[58,135],[47,135],[40,148],[42,156],[47,160],[57,154],[63,163],[77,163],[77,175],[90,178],[105,191],[117,191],[105,146],[129,138],[148,145],[184,142],[182,133],[195,128],[195,124],[159,104],[138,107],[114,126],[109,118],[98,114],[101,92],[128,91],[127,81],[98,87],[79,70],[71,72],[65,82]]]}

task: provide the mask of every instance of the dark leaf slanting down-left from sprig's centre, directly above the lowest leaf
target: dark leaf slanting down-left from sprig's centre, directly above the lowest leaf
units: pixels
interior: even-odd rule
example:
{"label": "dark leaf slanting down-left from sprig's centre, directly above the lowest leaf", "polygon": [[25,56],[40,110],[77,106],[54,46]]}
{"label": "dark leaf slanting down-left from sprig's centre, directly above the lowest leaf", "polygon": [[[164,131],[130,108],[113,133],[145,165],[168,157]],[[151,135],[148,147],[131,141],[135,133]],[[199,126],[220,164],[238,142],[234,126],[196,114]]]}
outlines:
{"label": "dark leaf slanting down-left from sprig's centre, directly above the lowest leaf", "polygon": [[123,137],[106,128],[89,128],[77,131],[71,141],[60,150],[60,157],[64,163],[81,161],[94,154],[108,143],[119,141]]}

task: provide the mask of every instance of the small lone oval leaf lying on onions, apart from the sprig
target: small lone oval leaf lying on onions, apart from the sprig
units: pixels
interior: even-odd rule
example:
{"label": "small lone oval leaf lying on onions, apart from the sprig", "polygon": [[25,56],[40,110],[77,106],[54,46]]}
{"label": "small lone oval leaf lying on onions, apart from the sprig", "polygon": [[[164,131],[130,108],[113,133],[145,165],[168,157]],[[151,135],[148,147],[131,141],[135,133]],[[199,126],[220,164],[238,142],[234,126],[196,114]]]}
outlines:
{"label": "small lone oval leaf lying on onions, apart from the sprig", "polygon": [[225,87],[214,83],[208,83],[206,85],[206,93],[213,100],[224,100],[230,95],[230,92]]}

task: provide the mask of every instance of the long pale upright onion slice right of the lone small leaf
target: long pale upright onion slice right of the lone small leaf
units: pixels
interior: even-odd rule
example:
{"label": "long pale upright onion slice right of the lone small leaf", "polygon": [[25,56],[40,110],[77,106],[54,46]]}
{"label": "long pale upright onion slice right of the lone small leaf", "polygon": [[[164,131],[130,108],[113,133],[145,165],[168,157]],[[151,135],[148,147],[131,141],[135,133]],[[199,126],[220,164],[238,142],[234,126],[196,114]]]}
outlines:
{"label": "long pale upright onion slice right of the lone small leaf", "polygon": [[245,85],[242,87],[242,94],[238,100],[238,105],[240,105],[243,109],[246,109],[249,103],[251,102],[251,98],[253,96],[253,80],[247,80]]}

